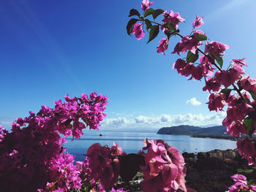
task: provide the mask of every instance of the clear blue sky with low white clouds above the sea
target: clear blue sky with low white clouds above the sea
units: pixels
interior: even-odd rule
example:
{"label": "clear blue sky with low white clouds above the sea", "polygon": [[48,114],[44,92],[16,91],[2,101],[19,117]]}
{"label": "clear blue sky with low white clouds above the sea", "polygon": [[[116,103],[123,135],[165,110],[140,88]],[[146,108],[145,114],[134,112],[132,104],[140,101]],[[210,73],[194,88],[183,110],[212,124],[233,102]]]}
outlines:
{"label": "clear blue sky with low white clouds above the sea", "polygon": [[[140,2],[0,1],[0,123],[8,128],[67,93],[92,91],[109,98],[102,128],[221,123],[225,113],[208,112],[203,82],[171,69],[178,37],[164,56],[156,49],[162,34],[148,45],[147,34],[140,41],[127,35],[129,9],[140,10]],[[255,77],[255,0],[154,1],[151,7],[179,12],[186,19],[179,26],[184,35],[196,14],[204,16],[200,29],[210,41],[230,45],[226,66],[246,58],[246,74]]]}

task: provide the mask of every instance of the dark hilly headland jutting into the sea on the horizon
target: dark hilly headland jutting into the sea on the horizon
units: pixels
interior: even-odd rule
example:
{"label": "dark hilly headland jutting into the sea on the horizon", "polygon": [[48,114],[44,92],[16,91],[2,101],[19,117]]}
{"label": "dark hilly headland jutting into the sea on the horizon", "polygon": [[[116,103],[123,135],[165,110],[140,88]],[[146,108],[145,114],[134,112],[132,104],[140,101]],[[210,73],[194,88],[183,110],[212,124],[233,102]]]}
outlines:
{"label": "dark hilly headland jutting into the sea on the horizon", "polygon": [[190,137],[234,139],[233,137],[230,137],[230,134],[225,134],[225,132],[227,132],[227,128],[225,126],[211,126],[203,128],[200,126],[181,125],[160,128],[157,131],[157,134],[182,134],[189,135]]}

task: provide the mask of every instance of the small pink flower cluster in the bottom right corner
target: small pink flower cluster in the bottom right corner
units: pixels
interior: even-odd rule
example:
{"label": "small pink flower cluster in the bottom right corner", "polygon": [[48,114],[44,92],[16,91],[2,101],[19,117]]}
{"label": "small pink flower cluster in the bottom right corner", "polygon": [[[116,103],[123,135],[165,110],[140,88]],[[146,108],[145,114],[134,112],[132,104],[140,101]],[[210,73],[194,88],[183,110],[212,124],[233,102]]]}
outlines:
{"label": "small pink flower cluster in the bottom right corner", "polygon": [[236,183],[231,185],[226,192],[256,191],[256,185],[249,185],[243,174],[234,174],[231,178]]}

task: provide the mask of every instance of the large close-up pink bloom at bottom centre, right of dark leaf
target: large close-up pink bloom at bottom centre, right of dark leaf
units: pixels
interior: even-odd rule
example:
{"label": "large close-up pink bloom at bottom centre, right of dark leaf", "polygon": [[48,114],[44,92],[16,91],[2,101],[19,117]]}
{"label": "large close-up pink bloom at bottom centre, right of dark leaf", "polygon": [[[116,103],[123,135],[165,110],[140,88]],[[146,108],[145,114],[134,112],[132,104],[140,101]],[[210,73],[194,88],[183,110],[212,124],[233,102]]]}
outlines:
{"label": "large close-up pink bloom at bottom centre, right of dark leaf", "polygon": [[143,150],[148,150],[148,153],[145,154],[145,166],[141,166],[143,191],[187,191],[184,158],[176,147],[167,145],[163,140],[148,139],[144,145]]}

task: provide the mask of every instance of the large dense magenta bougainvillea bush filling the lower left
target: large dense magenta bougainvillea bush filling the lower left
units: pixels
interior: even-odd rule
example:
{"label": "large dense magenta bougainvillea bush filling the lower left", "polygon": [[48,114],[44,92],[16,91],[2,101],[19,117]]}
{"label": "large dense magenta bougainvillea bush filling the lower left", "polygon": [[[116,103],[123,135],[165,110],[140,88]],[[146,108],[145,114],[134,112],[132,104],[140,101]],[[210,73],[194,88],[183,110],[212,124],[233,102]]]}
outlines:
{"label": "large dense magenta bougainvillea bush filling the lower left", "polygon": [[[3,191],[67,191],[80,188],[80,171],[73,166],[74,155],[63,148],[72,135],[80,138],[83,128],[98,129],[105,118],[107,97],[91,93],[80,98],[65,96],[55,107],[43,106],[29,117],[17,118],[12,132],[0,128],[0,180]],[[81,123],[83,120],[84,123]],[[15,183],[15,185],[13,185]]]}

